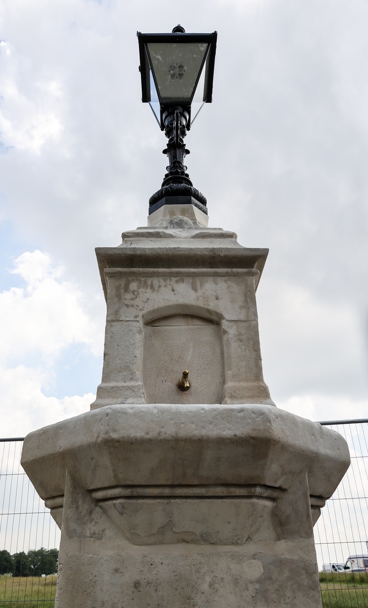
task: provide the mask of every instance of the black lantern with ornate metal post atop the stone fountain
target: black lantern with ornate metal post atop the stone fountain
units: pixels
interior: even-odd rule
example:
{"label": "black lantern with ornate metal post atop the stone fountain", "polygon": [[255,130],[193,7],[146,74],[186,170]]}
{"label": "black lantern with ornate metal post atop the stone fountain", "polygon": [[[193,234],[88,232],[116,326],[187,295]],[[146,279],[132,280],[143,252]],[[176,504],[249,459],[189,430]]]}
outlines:
{"label": "black lantern with ornate metal post atop the stone fountain", "polygon": [[217,32],[187,34],[182,26],[171,34],[137,32],[142,102],[149,103],[165,130],[169,159],[162,187],[149,199],[149,213],[164,204],[191,203],[207,213],[205,197],[193,187],[184,160],[186,131],[204,103],[212,102]]}

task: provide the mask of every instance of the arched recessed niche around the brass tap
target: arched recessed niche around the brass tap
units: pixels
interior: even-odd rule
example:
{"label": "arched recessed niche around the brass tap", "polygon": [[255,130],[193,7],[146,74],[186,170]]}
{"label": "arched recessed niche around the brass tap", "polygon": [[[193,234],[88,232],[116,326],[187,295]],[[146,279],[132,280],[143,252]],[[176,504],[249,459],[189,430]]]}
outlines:
{"label": "arched recessed niche around the brass tap", "polygon": [[[191,388],[177,382],[189,370]],[[143,386],[146,403],[220,403],[223,385],[219,323],[172,314],[145,324]]]}

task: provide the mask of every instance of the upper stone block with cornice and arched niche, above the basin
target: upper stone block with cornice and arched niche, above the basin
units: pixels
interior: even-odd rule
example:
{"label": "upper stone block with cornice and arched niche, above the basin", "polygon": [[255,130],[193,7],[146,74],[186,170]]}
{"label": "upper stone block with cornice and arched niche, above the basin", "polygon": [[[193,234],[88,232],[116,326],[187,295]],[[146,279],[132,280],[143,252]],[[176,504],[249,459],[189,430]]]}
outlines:
{"label": "upper stone block with cornice and arched niche, above the basin", "polygon": [[[273,404],[262,373],[255,294],[268,249],[241,247],[234,232],[179,216],[125,232],[120,247],[96,252],[107,317],[93,409]],[[192,387],[182,393],[176,385],[185,368]]]}

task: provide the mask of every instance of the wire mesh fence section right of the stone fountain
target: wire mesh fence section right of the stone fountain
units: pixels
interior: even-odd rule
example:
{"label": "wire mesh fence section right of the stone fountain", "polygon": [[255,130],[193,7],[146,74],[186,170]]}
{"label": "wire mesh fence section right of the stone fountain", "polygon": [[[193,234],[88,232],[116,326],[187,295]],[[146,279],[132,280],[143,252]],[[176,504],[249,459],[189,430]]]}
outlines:
{"label": "wire mesh fence section right of the stone fountain", "polygon": [[368,608],[368,420],[322,424],[346,439],[352,460],[315,525],[322,603]]}

